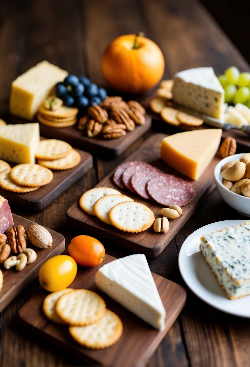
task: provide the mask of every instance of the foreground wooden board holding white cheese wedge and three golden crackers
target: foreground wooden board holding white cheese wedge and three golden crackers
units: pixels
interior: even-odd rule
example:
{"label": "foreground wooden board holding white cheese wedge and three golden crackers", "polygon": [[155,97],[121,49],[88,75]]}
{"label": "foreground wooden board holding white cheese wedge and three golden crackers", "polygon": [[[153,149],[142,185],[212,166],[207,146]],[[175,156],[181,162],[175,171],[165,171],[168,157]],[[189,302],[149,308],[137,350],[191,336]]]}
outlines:
{"label": "foreground wooden board holding white cheese wedge and three golden crackers", "polygon": [[115,258],[106,254],[102,264],[95,268],[78,266],[76,279],[70,284],[70,288],[87,288],[97,292],[103,297],[107,308],[120,317],[123,323],[123,333],[116,344],[100,350],[87,349],[77,344],[70,337],[67,326],[56,325],[43,315],[42,304],[48,294],[45,291],[36,294],[19,310],[21,323],[49,342],[73,353],[80,359],[91,360],[98,366],[144,366],[183,309],[186,292],[179,284],[152,273],[166,310],[165,329],[156,330],[97,288],[95,275],[98,268],[113,260]]}

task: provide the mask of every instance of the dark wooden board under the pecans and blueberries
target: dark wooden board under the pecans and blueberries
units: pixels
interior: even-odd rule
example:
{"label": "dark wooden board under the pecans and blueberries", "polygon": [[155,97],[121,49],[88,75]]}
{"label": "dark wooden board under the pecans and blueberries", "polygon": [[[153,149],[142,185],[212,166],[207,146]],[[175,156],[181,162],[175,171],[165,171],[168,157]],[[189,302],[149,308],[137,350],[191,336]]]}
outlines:
{"label": "dark wooden board under the pecans and blueberries", "polygon": [[89,138],[86,131],[78,130],[77,125],[65,128],[53,128],[40,123],[41,135],[47,138],[64,140],[72,146],[84,147],[88,152],[109,158],[118,157],[136,140],[151,128],[151,117],[145,116],[145,124],[136,125],[135,130],[118,139]]}

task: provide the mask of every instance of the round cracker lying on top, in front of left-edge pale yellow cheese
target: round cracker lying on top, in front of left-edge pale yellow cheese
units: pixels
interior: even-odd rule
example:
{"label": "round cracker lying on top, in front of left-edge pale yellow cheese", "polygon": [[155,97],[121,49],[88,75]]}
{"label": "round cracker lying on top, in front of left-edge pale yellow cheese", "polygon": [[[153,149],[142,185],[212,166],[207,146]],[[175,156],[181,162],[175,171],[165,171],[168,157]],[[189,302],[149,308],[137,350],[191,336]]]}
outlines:
{"label": "round cracker lying on top, in front of left-edge pale yellow cheese", "polygon": [[23,163],[11,169],[10,179],[16,185],[44,186],[52,181],[53,173],[39,164]]}

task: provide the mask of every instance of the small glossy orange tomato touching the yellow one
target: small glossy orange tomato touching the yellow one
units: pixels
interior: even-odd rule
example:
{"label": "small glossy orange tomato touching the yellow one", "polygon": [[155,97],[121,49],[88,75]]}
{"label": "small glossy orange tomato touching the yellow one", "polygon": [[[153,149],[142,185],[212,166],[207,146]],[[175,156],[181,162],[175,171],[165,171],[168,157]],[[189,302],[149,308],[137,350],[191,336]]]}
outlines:
{"label": "small glossy orange tomato touching the yellow one", "polygon": [[91,236],[74,237],[68,247],[69,254],[82,266],[96,266],[101,264],[105,256],[105,249],[100,243]]}

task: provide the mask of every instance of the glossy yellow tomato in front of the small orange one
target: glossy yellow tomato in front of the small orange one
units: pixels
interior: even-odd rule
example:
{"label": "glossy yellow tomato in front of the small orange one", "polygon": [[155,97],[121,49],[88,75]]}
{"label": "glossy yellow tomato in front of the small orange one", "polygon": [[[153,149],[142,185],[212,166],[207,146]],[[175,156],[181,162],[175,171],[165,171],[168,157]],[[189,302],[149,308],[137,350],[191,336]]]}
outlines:
{"label": "glossy yellow tomato in front of the small orange one", "polygon": [[49,292],[67,288],[75,279],[77,264],[68,255],[58,255],[45,261],[39,270],[39,283]]}

